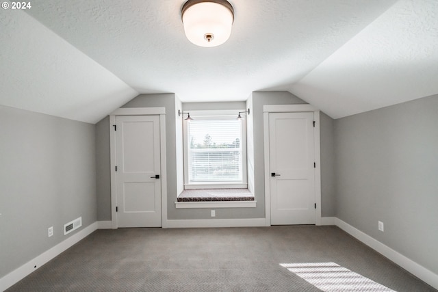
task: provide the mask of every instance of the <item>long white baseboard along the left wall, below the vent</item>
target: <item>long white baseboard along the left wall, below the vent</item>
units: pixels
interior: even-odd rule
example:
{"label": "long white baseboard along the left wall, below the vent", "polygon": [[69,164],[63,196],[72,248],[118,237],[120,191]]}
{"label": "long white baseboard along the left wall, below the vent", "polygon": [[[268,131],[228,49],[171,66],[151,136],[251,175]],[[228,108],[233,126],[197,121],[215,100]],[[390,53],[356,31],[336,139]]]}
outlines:
{"label": "long white baseboard along the left wall, below the vent", "polygon": [[31,259],[21,267],[18,267],[14,271],[11,271],[8,275],[4,276],[3,278],[0,278],[0,291],[4,291],[8,289],[13,284],[25,278],[27,275],[31,274],[31,272],[35,271],[36,269],[38,269],[39,267],[50,261],[52,258],[55,258],[55,256],[61,254],[62,252],[73,246],[81,239],[93,233],[94,230],[97,229],[97,226],[98,226],[97,222],[90,224],[86,228],[80,230],[75,235],[72,235],[67,239],[65,239],[64,241],[53,246],[53,248],[51,248],[50,250],[43,252],[42,254],[40,254],[36,258]]}

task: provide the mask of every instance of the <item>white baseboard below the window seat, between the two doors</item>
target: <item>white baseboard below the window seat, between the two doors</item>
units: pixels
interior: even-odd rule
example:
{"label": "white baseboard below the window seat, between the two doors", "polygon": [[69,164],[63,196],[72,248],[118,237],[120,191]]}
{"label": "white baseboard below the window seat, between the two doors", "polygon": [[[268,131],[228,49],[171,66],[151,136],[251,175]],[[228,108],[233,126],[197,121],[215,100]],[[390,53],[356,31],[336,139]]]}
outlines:
{"label": "white baseboard below the window seat, between the two doors", "polygon": [[[165,226],[165,227],[164,227]],[[266,226],[265,218],[167,220],[164,228],[256,227]]]}

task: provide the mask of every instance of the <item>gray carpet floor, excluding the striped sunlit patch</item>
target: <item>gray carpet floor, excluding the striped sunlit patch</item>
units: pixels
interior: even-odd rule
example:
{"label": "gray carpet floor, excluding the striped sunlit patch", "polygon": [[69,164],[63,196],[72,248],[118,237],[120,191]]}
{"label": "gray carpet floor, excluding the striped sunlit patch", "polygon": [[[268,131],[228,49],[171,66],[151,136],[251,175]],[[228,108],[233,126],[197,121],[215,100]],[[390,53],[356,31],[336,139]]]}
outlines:
{"label": "gray carpet floor, excluding the striped sunlit patch", "polygon": [[7,291],[321,291],[296,263],[437,291],[335,226],[96,230]]}

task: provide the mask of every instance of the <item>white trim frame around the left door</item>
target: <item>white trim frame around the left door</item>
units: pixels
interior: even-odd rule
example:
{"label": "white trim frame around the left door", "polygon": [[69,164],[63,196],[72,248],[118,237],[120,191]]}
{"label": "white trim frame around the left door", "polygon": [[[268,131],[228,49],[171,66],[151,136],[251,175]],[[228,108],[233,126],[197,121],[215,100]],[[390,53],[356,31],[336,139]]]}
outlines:
{"label": "white trim frame around the left door", "polygon": [[120,107],[110,114],[110,161],[111,161],[111,225],[113,229],[117,225],[117,189],[116,189],[116,135],[114,124],[116,116],[159,116],[160,135],[160,164],[162,183],[162,227],[167,220],[167,171],[166,171],[166,108],[165,107]]}

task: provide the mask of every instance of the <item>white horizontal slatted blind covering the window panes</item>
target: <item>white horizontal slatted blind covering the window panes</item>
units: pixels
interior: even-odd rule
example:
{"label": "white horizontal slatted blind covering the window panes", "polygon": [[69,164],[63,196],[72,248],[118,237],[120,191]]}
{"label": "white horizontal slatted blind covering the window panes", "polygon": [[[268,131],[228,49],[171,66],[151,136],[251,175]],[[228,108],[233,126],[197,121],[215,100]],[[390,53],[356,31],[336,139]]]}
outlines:
{"label": "white horizontal slatted blind covering the window panes", "polygon": [[242,122],[191,120],[188,123],[190,183],[242,181]]}

